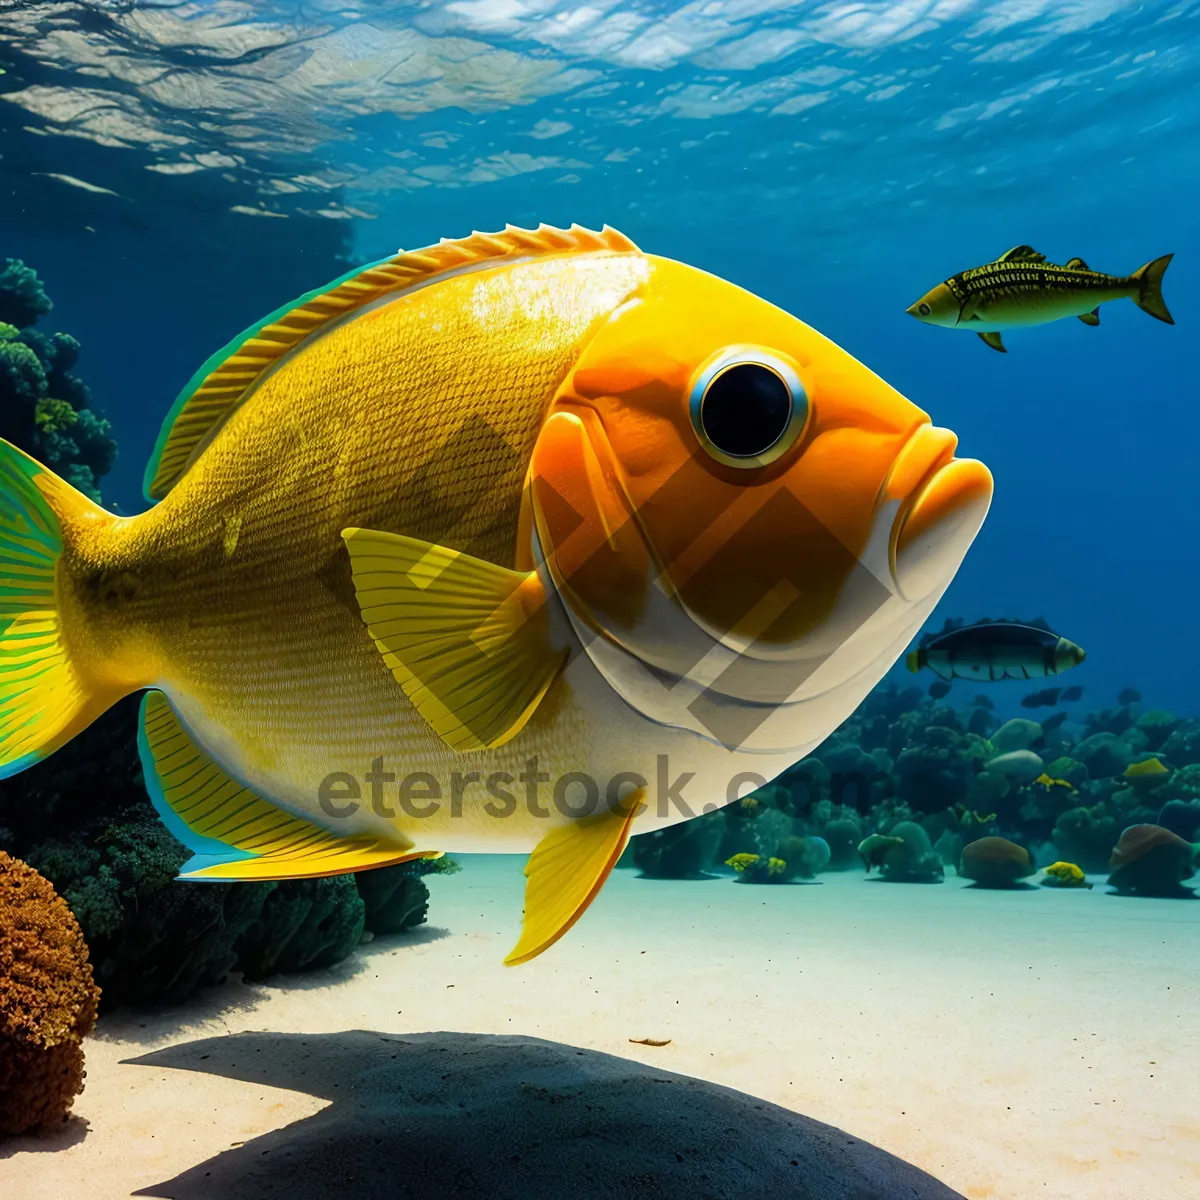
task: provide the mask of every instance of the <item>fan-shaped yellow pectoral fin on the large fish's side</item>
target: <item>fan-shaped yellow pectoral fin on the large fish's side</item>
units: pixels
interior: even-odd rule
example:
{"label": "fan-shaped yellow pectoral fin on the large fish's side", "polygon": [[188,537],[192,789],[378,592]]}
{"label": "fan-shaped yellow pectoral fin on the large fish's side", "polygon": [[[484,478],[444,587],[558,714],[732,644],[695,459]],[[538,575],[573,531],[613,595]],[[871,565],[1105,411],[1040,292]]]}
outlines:
{"label": "fan-shaped yellow pectoral fin on the large fish's side", "polygon": [[566,661],[536,571],[402,534],[343,529],[354,592],[384,662],[452,750],[503,745]]}

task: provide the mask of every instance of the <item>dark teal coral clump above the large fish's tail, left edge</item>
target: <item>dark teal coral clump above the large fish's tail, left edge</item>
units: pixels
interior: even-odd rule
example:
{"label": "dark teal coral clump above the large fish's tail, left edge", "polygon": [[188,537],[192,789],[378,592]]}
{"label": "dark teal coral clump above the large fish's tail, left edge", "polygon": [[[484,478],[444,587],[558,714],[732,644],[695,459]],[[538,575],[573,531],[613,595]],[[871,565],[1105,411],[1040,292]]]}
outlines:
{"label": "dark teal coral clump above the large fish's tail, left edge", "polygon": [[19,258],[0,271],[0,437],[26,450],[97,504],[100,480],[116,462],[108,421],[72,373],[79,343],[34,326],[54,307]]}

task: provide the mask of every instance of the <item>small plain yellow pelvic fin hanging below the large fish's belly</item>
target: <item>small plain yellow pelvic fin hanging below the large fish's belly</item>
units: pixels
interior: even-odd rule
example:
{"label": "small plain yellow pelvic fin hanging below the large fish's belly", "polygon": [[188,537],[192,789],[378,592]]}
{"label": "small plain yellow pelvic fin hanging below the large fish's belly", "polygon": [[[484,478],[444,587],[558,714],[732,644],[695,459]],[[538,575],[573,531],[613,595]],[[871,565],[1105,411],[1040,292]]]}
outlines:
{"label": "small plain yellow pelvic fin hanging below the large fish's belly", "polygon": [[505,966],[535,959],[583,916],[617,865],[644,794],[644,788],[638,788],[619,805],[559,826],[538,842],[526,864],[521,938]]}

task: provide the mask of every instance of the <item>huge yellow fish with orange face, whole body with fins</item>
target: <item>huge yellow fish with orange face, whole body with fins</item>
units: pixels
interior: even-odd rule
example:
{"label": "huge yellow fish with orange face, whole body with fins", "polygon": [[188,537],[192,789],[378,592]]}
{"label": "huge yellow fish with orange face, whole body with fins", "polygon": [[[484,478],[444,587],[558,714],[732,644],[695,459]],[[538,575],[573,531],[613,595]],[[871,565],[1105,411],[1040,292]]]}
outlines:
{"label": "huge yellow fish with orange face, whole body with fins", "polygon": [[523,962],[878,683],[991,500],[955,444],[613,229],[398,253],[200,367],[140,516],[0,443],[0,775],[146,690],[184,878],[532,852]]}

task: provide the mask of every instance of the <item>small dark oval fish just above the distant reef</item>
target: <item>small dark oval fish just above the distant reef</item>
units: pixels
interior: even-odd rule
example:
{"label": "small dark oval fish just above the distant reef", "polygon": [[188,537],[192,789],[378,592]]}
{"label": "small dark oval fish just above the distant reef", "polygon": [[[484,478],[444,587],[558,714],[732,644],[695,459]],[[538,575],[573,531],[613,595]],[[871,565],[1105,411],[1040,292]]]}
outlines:
{"label": "small dark oval fish just above the distant reef", "polygon": [[980,620],[937,634],[905,656],[917,672],[929,667],[942,679],[1039,679],[1069,671],[1086,655],[1066,637],[1037,625]]}

